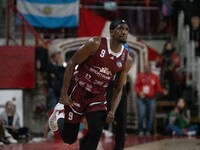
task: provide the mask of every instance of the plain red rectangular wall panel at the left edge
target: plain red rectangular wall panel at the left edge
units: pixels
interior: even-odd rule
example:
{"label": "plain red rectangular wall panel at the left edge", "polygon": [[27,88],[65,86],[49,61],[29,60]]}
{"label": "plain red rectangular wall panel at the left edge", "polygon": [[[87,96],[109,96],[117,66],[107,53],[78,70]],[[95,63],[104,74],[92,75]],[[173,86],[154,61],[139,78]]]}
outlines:
{"label": "plain red rectangular wall panel at the left edge", "polygon": [[0,88],[35,87],[34,47],[0,46]]}

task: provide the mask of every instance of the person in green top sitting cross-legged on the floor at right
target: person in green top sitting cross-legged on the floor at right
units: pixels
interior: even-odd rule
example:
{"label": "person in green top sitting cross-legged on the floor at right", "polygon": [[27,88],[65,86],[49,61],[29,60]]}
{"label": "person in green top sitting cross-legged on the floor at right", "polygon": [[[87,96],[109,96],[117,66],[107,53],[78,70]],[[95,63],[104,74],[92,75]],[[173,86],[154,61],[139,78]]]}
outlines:
{"label": "person in green top sitting cross-legged on the floor at right", "polygon": [[176,107],[169,113],[169,124],[167,131],[172,135],[196,135],[198,126],[190,125],[190,110],[187,108],[185,100],[180,98]]}

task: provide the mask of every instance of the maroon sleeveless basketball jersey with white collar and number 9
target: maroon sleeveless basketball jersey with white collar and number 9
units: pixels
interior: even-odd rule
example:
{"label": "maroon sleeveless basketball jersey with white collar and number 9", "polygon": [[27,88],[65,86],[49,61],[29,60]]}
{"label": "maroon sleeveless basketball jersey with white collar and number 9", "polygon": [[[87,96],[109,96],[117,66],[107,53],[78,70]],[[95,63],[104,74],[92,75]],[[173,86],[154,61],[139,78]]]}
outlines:
{"label": "maroon sleeveless basketball jersey with white collar and number 9", "polygon": [[101,38],[97,52],[78,66],[75,80],[91,93],[104,93],[109,81],[122,70],[127,53],[123,45],[119,53],[114,53],[110,49],[110,39]]}

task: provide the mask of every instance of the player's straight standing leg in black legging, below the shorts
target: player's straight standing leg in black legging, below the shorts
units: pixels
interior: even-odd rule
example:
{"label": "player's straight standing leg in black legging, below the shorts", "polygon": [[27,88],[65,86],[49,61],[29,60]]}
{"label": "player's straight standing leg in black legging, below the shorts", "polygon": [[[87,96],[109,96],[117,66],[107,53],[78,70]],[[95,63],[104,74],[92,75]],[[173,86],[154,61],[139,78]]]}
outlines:
{"label": "player's straight standing leg in black legging, below the shorts", "polygon": [[86,114],[88,132],[80,141],[80,150],[96,150],[105,125],[106,111]]}

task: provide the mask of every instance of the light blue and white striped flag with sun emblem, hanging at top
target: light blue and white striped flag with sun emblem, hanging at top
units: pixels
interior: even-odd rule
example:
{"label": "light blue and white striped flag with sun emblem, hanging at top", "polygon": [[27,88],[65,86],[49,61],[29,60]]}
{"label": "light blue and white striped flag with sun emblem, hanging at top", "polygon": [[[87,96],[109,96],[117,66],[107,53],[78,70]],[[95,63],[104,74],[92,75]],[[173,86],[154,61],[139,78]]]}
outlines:
{"label": "light blue and white striped flag with sun emblem, hanging at top", "polygon": [[17,0],[17,8],[34,27],[70,28],[79,24],[79,0]]}

